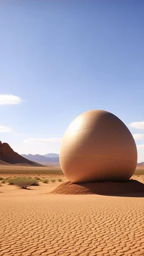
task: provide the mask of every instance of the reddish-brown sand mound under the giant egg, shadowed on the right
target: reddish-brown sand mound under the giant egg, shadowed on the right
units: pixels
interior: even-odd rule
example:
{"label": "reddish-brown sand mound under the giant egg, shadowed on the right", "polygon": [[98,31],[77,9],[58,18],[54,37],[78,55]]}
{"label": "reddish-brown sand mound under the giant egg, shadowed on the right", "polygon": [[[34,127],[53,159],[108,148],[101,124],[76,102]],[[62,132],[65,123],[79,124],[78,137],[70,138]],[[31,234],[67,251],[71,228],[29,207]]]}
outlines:
{"label": "reddish-brown sand mound under the giant egg, shadowed on the right", "polygon": [[[134,179],[127,182],[87,182],[87,183],[72,183],[64,182],[52,194],[63,195],[115,195],[115,196],[144,196],[144,184]],[[140,195],[141,194],[141,195]]]}

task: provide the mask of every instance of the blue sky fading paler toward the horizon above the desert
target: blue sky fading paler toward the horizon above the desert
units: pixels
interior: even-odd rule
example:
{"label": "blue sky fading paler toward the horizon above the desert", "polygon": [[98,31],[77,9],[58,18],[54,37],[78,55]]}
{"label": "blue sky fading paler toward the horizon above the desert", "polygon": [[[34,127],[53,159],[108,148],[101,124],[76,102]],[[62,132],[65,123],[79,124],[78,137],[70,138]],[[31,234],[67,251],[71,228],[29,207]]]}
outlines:
{"label": "blue sky fading paler toward the horizon above the desert", "polygon": [[91,109],[144,134],[143,11],[141,0],[1,0],[0,140],[59,153],[69,123]]}

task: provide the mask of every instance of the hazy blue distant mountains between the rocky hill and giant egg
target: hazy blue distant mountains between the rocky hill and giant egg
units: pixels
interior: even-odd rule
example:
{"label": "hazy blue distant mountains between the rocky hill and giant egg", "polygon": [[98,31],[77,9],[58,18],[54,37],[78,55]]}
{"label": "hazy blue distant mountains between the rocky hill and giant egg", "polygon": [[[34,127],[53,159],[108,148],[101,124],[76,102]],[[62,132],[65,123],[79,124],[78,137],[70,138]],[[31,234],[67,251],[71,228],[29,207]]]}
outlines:
{"label": "hazy blue distant mountains between the rocky hill and giant egg", "polygon": [[21,156],[23,156],[24,158],[30,160],[30,161],[34,161],[37,162],[39,164],[43,164],[43,165],[59,165],[59,154],[46,154],[46,155],[25,155],[22,154]]}

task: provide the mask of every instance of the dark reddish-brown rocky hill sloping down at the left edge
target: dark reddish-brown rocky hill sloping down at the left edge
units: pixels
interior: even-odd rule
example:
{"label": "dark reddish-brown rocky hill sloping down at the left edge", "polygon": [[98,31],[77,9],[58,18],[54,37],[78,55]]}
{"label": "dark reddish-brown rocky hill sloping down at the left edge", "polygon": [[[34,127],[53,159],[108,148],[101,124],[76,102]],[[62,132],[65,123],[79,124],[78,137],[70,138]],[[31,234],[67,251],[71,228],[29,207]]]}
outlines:
{"label": "dark reddish-brown rocky hill sloping down at the left edge", "polygon": [[30,161],[23,156],[17,154],[8,145],[8,143],[2,143],[0,141],[0,164],[28,164],[40,166],[40,164],[35,163],[35,161]]}

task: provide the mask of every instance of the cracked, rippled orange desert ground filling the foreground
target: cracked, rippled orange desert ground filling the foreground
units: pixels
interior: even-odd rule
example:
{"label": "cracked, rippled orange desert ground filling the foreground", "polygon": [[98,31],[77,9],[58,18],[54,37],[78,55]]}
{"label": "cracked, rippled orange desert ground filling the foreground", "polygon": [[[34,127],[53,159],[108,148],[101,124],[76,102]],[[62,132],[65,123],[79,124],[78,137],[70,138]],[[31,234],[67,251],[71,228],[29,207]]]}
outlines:
{"label": "cracked, rippled orange desert ground filling the foreground", "polygon": [[141,197],[1,197],[1,256],[144,255]]}

